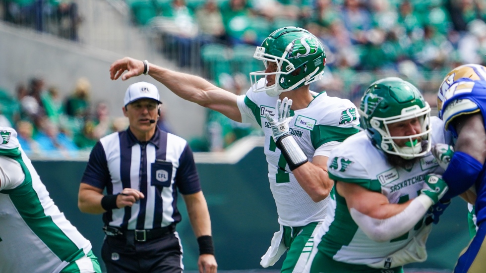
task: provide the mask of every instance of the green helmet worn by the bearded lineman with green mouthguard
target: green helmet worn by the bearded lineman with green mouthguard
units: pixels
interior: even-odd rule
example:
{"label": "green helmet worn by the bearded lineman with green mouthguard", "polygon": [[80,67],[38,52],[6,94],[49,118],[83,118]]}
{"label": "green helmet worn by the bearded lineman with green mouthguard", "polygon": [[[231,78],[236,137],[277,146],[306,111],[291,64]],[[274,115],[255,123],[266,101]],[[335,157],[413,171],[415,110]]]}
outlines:
{"label": "green helmet worn by the bearded lineman with green mouthguard", "polygon": [[[361,99],[362,126],[368,132],[373,144],[385,153],[404,159],[424,156],[430,151],[428,141],[425,150],[422,141],[430,139],[430,107],[420,91],[411,83],[400,78],[389,77],[372,83]],[[419,118],[421,133],[392,137],[388,124]],[[414,140],[414,138],[416,140]],[[399,147],[394,140],[408,139],[406,146]]]}

